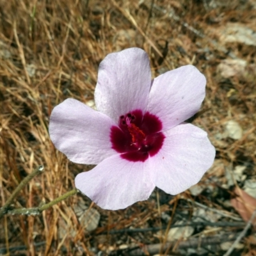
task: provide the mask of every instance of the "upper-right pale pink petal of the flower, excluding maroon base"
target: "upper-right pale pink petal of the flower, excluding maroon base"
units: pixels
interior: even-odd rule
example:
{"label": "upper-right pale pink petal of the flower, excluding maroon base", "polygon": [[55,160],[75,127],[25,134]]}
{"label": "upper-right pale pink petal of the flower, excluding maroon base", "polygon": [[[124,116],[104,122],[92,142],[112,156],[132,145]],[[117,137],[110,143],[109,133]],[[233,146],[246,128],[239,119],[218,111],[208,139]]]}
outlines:
{"label": "upper-right pale pink petal of the flower, excluding maroon base", "polygon": [[192,65],[177,68],[154,79],[147,111],[160,118],[163,131],[195,115],[205,97],[206,80]]}

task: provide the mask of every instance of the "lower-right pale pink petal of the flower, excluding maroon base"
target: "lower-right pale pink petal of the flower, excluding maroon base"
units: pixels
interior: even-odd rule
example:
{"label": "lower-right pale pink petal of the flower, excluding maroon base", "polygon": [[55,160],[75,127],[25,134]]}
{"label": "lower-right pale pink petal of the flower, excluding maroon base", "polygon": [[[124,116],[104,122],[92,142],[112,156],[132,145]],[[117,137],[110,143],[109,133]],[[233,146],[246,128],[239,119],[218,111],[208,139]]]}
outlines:
{"label": "lower-right pale pink petal of the flower, excluding maroon base", "polygon": [[192,124],[180,124],[164,132],[164,145],[148,161],[152,181],[176,195],[195,185],[211,167],[215,149],[207,133]]}

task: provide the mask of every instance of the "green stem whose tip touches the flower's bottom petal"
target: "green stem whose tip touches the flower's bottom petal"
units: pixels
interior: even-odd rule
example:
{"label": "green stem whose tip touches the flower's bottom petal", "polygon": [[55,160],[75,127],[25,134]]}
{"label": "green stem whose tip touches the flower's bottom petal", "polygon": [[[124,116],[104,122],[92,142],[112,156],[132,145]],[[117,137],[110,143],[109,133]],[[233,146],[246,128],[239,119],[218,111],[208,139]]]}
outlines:
{"label": "green stem whose tip touches the flower's bottom petal", "polygon": [[59,202],[67,199],[69,196],[75,195],[77,192],[78,192],[77,189],[72,189],[72,190],[68,191],[67,193],[65,193],[64,195],[61,195],[58,198],[52,200],[48,204],[44,204],[40,207],[14,209],[12,211],[8,211],[7,214],[38,215],[42,211],[45,211],[48,208],[52,207],[53,205],[58,204]]}

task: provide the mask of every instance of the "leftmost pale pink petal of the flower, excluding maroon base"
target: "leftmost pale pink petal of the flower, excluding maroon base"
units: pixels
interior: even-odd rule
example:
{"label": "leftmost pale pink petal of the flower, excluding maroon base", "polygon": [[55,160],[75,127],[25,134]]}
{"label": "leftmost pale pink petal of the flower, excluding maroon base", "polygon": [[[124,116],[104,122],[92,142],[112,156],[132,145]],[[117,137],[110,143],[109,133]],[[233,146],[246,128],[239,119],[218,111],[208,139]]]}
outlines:
{"label": "leftmost pale pink petal of the flower, excluding maroon base", "polygon": [[112,125],[115,123],[109,116],[67,99],[52,110],[49,134],[54,146],[70,161],[98,164],[116,154],[109,139]]}

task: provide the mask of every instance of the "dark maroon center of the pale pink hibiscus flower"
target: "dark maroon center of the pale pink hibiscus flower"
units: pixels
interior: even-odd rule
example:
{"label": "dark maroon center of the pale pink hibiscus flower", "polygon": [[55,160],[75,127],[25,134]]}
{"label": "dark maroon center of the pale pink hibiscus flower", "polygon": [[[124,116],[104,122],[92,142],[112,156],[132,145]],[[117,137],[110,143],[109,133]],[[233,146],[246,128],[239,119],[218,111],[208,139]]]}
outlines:
{"label": "dark maroon center of the pale pink hibiscus flower", "polygon": [[134,110],[120,116],[118,126],[111,127],[112,148],[132,162],[144,162],[159,152],[164,134],[159,118],[148,112]]}

